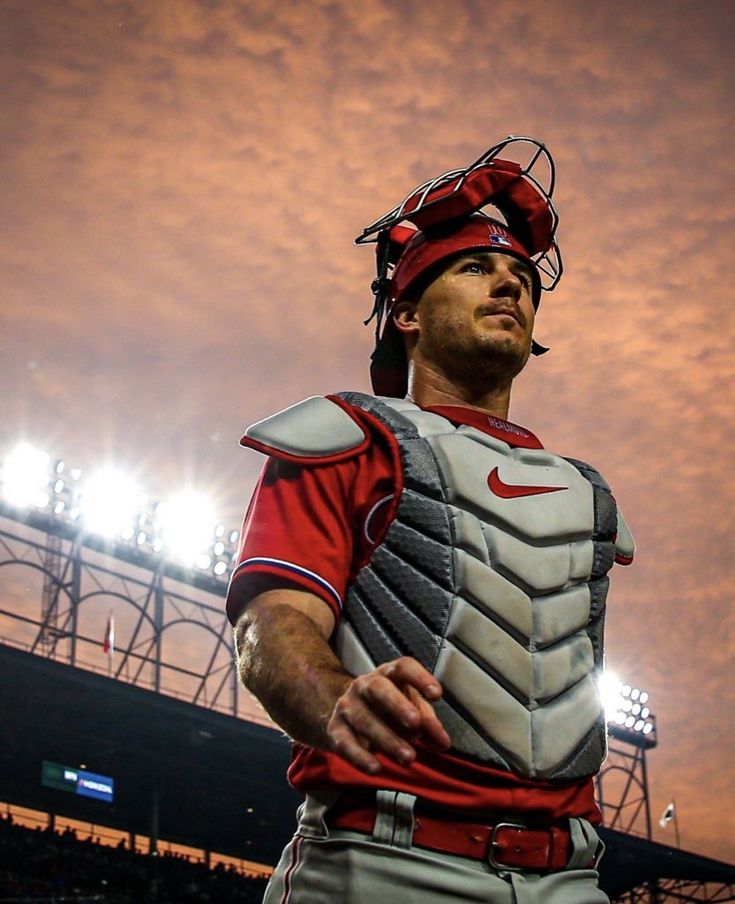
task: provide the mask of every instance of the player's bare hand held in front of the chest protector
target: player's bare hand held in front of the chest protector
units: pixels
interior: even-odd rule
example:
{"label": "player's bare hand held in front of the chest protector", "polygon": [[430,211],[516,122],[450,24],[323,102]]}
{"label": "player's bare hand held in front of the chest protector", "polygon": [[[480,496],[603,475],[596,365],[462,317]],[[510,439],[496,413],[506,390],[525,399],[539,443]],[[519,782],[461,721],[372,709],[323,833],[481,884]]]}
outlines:
{"label": "player's bare hand held in front of the chest protector", "polygon": [[447,750],[451,739],[430,704],[441,695],[441,685],[415,659],[383,663],[354,678],[337,700],[327,724],[332,749],[370,774],[380,771],[371,751],[408,765],[419,738]]}

